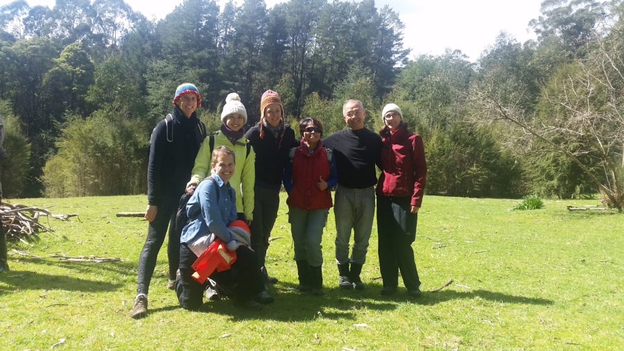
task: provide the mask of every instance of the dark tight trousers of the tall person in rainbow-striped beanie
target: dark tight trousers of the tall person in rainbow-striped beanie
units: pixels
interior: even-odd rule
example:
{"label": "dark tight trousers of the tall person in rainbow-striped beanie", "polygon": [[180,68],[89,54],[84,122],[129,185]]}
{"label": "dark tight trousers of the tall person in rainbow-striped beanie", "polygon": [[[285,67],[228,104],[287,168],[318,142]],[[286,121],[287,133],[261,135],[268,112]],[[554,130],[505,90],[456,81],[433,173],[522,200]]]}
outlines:
{"label": "dark tight trousers of the tall person in rainbow-striped beanie", "polygon": [[[164,243],[169,228],[167,256],[169,260],[169,279],[175,279],[175,271],[180,262],[180,236],[175,232],[175,212],[180,198],[164,197],[158,205],[154,221],[148,224],[148,236],[139,255],[139,277],[137,293],[147,294],[150,281],[156,268],[158,252]],[[171,223],[171,224],[170,224]]]}

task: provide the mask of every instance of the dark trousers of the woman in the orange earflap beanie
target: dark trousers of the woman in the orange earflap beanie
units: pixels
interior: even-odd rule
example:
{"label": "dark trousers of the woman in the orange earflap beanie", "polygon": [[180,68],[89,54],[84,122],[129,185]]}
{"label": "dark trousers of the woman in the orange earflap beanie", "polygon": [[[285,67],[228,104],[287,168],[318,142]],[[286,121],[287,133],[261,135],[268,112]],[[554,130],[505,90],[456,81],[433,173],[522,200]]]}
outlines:
{"label": "dark trousers of the woman in the orange earflap beanie", "polygon": [[260,267],[264,267],[269,246],[268,239],[277,219],[277,209],[279,209],[279,189],[268,189],[256,185],[254,192],[254,220],[250,227],[252,248],[258,255]]}

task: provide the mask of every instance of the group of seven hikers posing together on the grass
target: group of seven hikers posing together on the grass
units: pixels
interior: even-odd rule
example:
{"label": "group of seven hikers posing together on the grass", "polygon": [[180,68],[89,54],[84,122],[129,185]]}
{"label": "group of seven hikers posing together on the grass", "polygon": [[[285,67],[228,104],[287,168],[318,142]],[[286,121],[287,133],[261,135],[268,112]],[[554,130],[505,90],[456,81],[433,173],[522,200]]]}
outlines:
{"label": "group of seven hikers posing together on the grass", "polygon": [[[208,137],[196,117],[201,96],[195,85],[177,87],[173,104],[150,139],[148,236],[139,256],[132,318],[147,314],[149,284],[167,228],[167,286],[183,308],[199,309],[204,296],[217,300],[227,295],[252,310],[273,302],[268,284],[278,280],[268,274],[265,261],[282,184],[288,192],[297,291],[323,294],[321,241],[331,207],[338,286],[365,289],[360,276],[376,198],[381,294],[397,291],[401,271],[408,294],[420,296],[410,244],[426,162],[422,138],[408,130],[399,106],[383,108],[384,127],[377,134],[364,127],[362,103],[348,100],[343,105],[348,128],[324,137],[318,119],[304,118],[297,138],[272,90],[262,95],[259,123],[246,132],[247,111],[238,94],[227,96],[223,124]],[[333,201],[331,189],[336,189]]]}

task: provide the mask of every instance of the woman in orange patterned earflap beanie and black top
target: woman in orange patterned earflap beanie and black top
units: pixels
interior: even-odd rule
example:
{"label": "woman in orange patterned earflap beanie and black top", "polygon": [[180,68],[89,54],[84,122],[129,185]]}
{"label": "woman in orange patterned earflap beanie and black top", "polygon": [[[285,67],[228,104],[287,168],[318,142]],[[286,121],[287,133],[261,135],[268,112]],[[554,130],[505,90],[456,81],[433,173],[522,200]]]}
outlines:
{"label": "woman in orange patterned earflap beanie and black top", "polygon": [[258,254],[266,282],[275,284],[277,278],[269,277],[266,271],[266,251],[277,219],[279,190],[284,166],[288,162],[288,150],[299,146],[295,131],[284,123],[284,106],[277,92],[267,90],[262,94],[260,121],[250,128],[245,137],[256,152],[254,221],[250,225],[252,248]]}

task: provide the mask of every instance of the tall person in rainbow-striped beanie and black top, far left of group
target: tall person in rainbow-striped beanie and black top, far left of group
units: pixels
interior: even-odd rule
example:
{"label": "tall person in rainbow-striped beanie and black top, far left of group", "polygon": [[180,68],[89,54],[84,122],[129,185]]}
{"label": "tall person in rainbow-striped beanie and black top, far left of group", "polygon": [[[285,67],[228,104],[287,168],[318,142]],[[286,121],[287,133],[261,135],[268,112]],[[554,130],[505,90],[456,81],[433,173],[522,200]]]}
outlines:
{"label": "tall person in rainbow-striped beanie and black top, far left of group", "polygon": [[168,227],[167,287],[173,289],[175,271],[180,262],[180,238],[172,234],[175,232],[173,221],[180,196],[184,194],[191,176],[195,157],[206,136],[206,126],[196,114],[201,102],[195,85],[183,83],[177,87],[173,97],[173,111],[158,123],[150,138],[148,206],[145,214],[148,235],[139,255],[137,297],[130,314],[132,318],[143,318],[147,314],[150,281]]}

